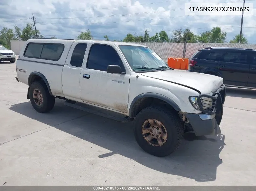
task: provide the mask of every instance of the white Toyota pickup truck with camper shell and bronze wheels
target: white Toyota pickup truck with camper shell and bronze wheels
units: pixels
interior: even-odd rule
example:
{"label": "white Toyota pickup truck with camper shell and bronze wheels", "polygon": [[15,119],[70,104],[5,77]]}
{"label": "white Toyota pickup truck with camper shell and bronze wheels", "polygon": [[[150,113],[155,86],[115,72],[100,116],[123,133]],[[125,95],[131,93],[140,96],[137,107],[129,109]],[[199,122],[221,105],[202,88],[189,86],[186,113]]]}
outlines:
{"label": "white Toyota pickup truck with camper shell and bronze wheels", "polygon": [[70,107],[133,121],[136,141],[155,156],[175,151],[184,132],[220,133],[223,79],[169,68],[146,46],[31,39],[20,51],[16,67],[16,80],[29,86],[27,99],[36,111],[49,112],[60,98]]}

